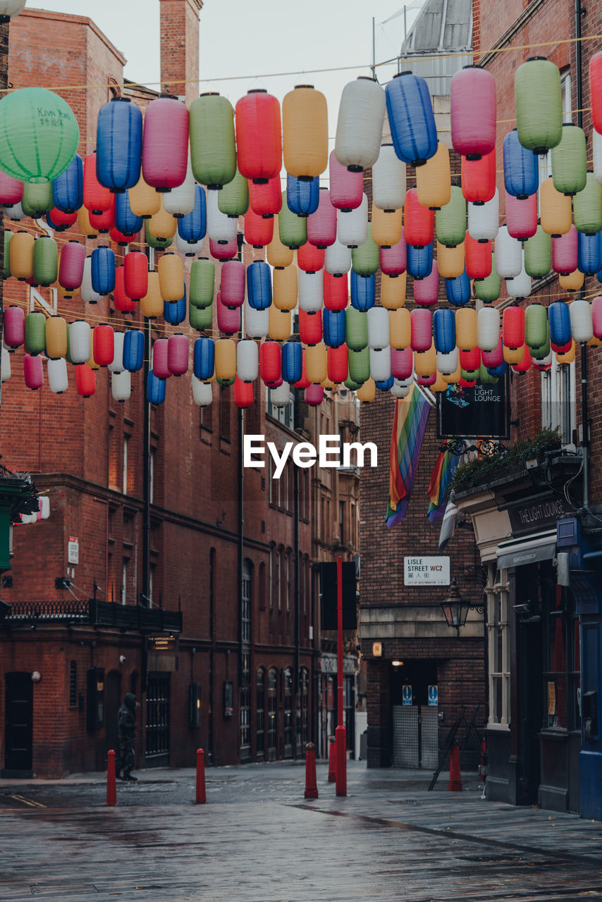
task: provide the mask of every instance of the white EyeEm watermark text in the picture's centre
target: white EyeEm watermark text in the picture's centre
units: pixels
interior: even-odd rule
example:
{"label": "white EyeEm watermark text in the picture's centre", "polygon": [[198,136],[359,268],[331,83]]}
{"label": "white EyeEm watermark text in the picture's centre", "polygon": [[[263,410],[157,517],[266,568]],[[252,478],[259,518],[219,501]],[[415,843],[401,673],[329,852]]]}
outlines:
{"label": "white EyeEm watermark text in the picture's centre", "polygon": [[[243,438],[243,466],[265,466],[265,436],[245,436]],[[273,442],[267,442],[267,450],[273,459],[275,468],[273,478],[280,479],[282,470],[289,456],[296,466],[365,466],[364,459],[368,453],[370,466],[376,466],[377,451],[374,442],[343,442],[341,446],[338,436],[320,436],[318,448],[310,442],[287,442],[282,453]],[[355,460],[351,461],[351,453],[355,452]],[[341,455],[342,452],[342,455]]]}

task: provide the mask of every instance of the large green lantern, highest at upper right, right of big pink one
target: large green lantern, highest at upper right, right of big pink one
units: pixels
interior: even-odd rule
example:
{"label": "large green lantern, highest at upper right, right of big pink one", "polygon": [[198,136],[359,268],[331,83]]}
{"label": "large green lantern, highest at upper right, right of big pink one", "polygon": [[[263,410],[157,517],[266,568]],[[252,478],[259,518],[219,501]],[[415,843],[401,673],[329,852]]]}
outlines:
{"label": "large green lantern, highest at upper right, right of big pink one", "polygon": [[533,153],[546,153],[562,138],[560,70],[545,57],[531,57],[516,69],[514,102],[518,140]]}

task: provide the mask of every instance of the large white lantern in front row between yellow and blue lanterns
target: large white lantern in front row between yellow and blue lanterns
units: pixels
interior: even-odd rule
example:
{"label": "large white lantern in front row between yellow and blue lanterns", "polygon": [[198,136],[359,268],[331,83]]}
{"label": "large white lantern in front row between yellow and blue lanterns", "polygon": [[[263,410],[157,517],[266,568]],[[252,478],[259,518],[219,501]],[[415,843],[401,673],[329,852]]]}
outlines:
{"label": "large white lantern in front row between yellow and blue lanterns", "polygon": [[365,170],[375,163],[384,124],[384,90],[374,78],[350,81],[338,107],[335,154],[347,169]]}

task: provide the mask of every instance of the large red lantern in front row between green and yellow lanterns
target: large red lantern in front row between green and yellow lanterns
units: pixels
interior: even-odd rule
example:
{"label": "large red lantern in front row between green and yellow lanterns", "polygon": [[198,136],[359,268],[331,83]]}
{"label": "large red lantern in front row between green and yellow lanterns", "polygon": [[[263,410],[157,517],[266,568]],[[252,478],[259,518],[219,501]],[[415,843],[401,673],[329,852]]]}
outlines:
{"label": "large red lantern in front row between green and yellow lanterns", "polygon": [[238,171],[245,179],[273,179],[282,169],[280,104],[264,88],[255,88],[236,103]]}

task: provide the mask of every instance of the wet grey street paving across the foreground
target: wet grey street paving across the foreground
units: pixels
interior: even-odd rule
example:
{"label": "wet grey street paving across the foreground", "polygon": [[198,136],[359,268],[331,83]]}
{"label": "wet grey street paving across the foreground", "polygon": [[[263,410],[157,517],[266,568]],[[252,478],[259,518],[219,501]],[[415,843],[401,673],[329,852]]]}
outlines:
{"label": "wet grey street paving across the foreground", "polygon": [[463,775],[348,764],[347,797],[318,764],[136,771],[0,782],[3,902],[467,902],[602,899],[602,824],[486,802]]}

